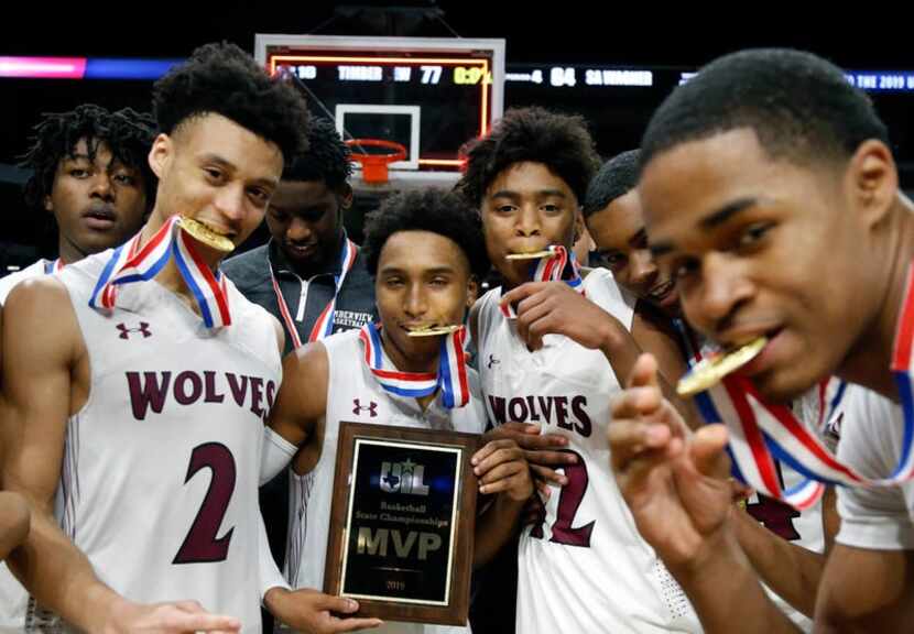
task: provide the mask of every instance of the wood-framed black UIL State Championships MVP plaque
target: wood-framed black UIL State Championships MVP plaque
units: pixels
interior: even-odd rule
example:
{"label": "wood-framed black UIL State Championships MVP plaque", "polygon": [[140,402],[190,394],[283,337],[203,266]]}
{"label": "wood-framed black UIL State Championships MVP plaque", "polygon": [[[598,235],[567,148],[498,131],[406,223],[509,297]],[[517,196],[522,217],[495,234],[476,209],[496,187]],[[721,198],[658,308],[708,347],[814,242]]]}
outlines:
{"label": "wood-framed black UIL State Championships MVP plaque", "polygon": [[325,591],[358,599],[360,614],[465,624],[476,442],[456,431],[341,424]]}

